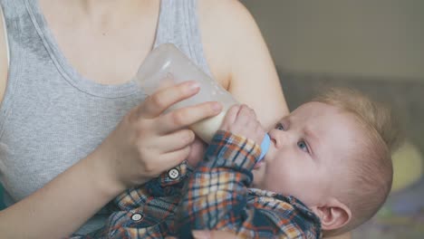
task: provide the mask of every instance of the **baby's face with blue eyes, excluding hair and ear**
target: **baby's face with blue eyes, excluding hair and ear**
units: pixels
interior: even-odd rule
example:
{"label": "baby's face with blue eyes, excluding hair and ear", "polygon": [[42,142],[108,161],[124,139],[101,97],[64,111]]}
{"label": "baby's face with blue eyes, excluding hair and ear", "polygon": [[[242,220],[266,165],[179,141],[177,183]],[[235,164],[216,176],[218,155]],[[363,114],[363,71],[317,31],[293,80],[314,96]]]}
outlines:
{"label": "baby's face with blue eyes, excluding hair and ear", "polygon": [[[273,141],[253,170],[254,186],[295,196],[306,206],[321,206],[332,196],[355,140],[351,114],[321,102],[308,102],[269,131]],[[338,186],[337,186],[338,187]]]}

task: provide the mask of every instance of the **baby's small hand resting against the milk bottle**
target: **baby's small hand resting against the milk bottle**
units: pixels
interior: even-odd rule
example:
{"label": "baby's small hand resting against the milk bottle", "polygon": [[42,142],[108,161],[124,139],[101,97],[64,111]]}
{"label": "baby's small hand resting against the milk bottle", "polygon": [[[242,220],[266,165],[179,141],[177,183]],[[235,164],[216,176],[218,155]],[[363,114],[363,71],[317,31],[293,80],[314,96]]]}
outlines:
{"label": "baby's small hand resting against the milk bottle", "polygon": [[256,119],[255,111],[246,105],[231,107],[219,129],[252,139],[257,144],[260,144],[265,136],[265,129]]}

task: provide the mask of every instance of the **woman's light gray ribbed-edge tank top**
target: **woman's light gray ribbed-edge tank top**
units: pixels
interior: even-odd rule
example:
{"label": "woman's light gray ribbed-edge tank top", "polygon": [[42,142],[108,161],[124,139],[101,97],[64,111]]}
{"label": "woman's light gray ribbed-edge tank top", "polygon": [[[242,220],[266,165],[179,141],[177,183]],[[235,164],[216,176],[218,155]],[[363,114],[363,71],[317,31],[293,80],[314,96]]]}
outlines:
{"label": "woman's light gray ribbed-edge tank top", "polygon": [[[0,182],[10,206],[42,187],[109,135],[145,98],[135,82],[104,85],[66,60],[35,0],[0,0],[10,66],[0,108]],[[174,43],[209,73],[196,0],[162,0],[155,46]],[[60,203],[60,202],[58,202]],[[103,208],[79,233],[103,225]]]}

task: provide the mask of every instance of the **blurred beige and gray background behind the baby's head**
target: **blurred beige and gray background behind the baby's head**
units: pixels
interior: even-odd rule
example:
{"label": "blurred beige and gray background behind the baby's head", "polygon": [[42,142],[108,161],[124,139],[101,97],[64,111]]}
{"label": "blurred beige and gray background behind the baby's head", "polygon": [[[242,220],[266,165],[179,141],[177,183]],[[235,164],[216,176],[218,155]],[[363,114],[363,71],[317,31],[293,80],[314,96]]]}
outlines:
{"label": "blurred beige and gray background behind the baby's head", "polygon": [[424,1],[241,2],[264,34],[291,110],[332,86],[396,110],[406,143],[393,156],[392,193],[353,238],[424,238]]}

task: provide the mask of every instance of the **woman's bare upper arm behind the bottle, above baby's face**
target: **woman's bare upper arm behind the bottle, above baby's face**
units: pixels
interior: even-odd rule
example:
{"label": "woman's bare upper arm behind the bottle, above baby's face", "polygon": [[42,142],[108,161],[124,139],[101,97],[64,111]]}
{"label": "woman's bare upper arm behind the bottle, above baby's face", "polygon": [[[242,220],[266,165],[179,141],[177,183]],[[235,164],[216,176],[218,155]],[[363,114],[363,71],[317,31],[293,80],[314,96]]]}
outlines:
{"label": "woman's bare upper arm behind the bottle, above baby's face", "polygon": [[275,65],[255,20],[237,0],[201,0],[202,43],[214,77],[253,108],[265,129],[288,113]]}

